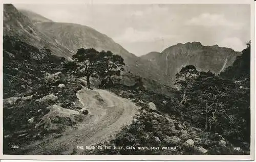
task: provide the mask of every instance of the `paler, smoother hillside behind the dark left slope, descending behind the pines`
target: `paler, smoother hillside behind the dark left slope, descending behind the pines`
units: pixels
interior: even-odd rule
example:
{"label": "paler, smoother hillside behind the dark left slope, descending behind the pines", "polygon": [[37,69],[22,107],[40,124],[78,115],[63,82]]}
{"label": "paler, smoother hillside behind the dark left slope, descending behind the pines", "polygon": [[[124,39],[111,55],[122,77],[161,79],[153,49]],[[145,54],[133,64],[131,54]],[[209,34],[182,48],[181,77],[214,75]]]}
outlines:
{"label": "paler, smoother hillside behind the dark left slope, descending behind the pines", "polygon": [[[42,21],[45,17],[32,14],[32,12],[21,11],[29,19],[34,20],[33,24],[36,29],[46,36],[46,40],[67,48],[69,52],[66,55],[56,52],[55,55],[60,57],[71,57],[78,48],[95,48],[98,51],[110,50],[113,53],[123,57],[126,64],[126,71],[139,74],[144,78],[161,80],[160,69],[148,60],[141,59],[124,49],[121,45],[114,42],[110,37],[99,33],[89,26],[74,24],[74,23],[60,23],[52,21]],[[36,22],[36,20],[38,20]],[[49,47],[51,48],[51,47]]]}

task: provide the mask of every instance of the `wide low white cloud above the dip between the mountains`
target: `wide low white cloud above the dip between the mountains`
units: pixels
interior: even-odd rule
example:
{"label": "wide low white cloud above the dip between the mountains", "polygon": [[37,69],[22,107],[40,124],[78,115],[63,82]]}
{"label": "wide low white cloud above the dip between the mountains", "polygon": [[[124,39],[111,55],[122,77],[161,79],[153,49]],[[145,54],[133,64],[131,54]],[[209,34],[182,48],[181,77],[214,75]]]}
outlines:
{"label": "wide low white cloud above the dip between the mountains", "polygon": [[158,31],[138,31],[132,27],[126,28],[123,34],[114,37],[113,39],[117,42],[154,42],[162,39],[174,38],[174,35],[162,34]]}

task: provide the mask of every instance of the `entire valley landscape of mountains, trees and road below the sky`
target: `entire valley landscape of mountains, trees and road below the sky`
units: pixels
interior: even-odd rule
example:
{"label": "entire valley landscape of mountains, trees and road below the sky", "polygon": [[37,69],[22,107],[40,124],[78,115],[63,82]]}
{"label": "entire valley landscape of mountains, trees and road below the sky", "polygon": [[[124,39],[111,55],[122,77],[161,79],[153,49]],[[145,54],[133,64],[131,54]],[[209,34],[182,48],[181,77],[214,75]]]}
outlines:
{"label": "entire valley landscape of mountains, trees and road below the sky", "polygon": [[250,48],[187,42],[137,57],[5,4],[4,154],[248,155]]}

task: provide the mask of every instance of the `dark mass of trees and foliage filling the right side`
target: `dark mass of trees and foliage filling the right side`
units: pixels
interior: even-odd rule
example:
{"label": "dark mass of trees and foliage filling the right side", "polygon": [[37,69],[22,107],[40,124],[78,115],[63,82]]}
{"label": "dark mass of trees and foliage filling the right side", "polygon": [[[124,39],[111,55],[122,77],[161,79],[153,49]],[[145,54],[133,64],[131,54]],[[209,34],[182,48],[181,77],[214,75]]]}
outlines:
{"label": "dark mass of trees and foliage filling the right side", "polygon": [[[205,130],[222,133],[230,141],[240,143],[250,141],[249,51],[248,45],[234,65],[219,76],[200,71],[186,79],[188,67],[177,74],[177,78],[183,78],[177,83],[186,92],[187,104],[182,109],[186,116]],[[234,74],[236,69],[239,74]]]}

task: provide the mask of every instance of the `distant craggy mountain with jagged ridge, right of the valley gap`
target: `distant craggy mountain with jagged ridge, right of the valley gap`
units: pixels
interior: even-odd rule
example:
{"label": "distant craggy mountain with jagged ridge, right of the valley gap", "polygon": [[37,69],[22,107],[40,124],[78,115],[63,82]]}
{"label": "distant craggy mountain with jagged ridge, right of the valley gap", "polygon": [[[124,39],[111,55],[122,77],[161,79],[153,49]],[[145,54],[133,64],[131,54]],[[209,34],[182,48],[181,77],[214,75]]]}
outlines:
{"label": "distant craggy mountain with jagged ridge, right of the valley gap", "polygon": [[[163,80],[175,82],[175,74],[186,65],[195,65],[200,71],[220,73],[232,65],[241,52],[218,45],[203,46],[200,42],[187,42],[176,44],[164,49],[161,53],[150,52],[142,59],[152,61],[162,69]],[[168,84],[168,83],[166,83]]]}

